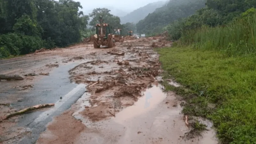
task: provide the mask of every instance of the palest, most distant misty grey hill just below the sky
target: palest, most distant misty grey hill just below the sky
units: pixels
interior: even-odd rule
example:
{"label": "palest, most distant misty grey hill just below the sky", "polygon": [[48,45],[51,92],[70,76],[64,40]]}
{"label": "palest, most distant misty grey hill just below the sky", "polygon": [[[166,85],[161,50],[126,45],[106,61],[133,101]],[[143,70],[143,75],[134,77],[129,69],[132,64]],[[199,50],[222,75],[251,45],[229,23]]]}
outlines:
{"label": "palest, most distant misty grey hill just below the sky", "polygon": [[155,3],[147,4],[143,7],[140,7],[131,13],[128,13],[124,17],[120,17],[121,23],[125,24],[127,22],[129,23],[137,23],[140,20],[144,19],[149,13],[154,12],[156,8],[159,8],[163,6],[166,3],[166,1],[159,1]]}

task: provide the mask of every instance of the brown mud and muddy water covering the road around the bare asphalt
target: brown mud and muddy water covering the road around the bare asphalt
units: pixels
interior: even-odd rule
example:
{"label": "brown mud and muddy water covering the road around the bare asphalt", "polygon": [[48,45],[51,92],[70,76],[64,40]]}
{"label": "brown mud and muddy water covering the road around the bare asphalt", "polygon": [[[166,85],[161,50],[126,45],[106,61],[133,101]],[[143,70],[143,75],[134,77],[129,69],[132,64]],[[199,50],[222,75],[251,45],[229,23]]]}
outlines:
{"label": "brown mud and muddy water covering the road around the bare asphalt", "polygon": [[[163,87],[158,84],[162,70],[154,49],[170,45],[165,40],[142,38],[116,43],[109,49],[80,44],[2,60],[0,73],[28,76],[22,82],[0,82],[4,83],[0,92],[33,85],[53,68],[80,61],[69,70],[70,81],[86,84],[87,92],[48,124],[37,144],[217,144],[211,123],[206,124],[209,131],[202,136],[186,138],[191,127],[186,126],[181,115],[179,96],[162,92]],[[29,91],[17,90],[3,103],[20,100],[20,95]],[[0,107],[0,116],[15,110]],[[0,123],[0,134],[12,137],[23,133],[22,128],[16,133],[5,133],[4,129],[12,128],[18,120],[13,117]]]}

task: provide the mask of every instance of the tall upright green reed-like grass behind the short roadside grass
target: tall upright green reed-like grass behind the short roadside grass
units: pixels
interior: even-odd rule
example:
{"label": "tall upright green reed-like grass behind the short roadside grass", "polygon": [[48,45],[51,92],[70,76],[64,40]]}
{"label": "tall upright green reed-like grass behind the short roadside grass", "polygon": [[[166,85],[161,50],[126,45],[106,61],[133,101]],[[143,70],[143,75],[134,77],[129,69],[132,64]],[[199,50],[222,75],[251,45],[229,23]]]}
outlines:
{"label": "tall upright green reed-like grass behind the short roadside grass", "polygon": [[229,56],[256,52],[256,13],[226,26],[192,29],[182,33],[181,44],[202,50],[224,51]]}

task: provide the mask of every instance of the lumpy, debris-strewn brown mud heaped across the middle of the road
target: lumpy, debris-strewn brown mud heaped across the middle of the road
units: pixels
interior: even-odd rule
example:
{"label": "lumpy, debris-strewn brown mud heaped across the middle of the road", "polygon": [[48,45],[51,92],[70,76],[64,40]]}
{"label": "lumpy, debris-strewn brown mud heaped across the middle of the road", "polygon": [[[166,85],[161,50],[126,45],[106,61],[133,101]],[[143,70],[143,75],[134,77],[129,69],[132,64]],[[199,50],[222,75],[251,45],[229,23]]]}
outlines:
{"label": "lumpy, debris-strewn brown mud heaped across the middle of the road", "polygon": [[132,42],[128,45],[118,43],[107,52],[97,52],[96,60],[95,55],[88,55],[87,59],[92,60],[69,71],[72,82],[89,86],[92,107],[80,113],[91,121],[115,116],[133,105],[142,96],[141,92],[162,73],[158,54],[148,41]]}

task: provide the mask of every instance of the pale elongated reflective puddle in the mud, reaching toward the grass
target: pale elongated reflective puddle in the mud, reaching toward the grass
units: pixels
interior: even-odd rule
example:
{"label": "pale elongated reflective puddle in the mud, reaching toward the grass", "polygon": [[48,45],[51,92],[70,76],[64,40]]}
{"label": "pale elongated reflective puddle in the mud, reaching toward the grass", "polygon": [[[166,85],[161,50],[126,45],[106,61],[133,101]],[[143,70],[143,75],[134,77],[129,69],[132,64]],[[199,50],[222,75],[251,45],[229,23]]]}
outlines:
{"label": "pale elongated reflective puddle in the mud, reaching toward the grass", "polygon": [[114,120],[118,123],[122,123],[125,120],[138,116],[156,107],[156,105],[163,101],[167,96],[167,94],[161,90],[162,87],[163,86],[161,85],[154,85],[147,89],[144,92],[144,95],[134,105],[122,110],[116,115]]}

